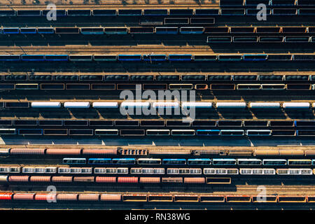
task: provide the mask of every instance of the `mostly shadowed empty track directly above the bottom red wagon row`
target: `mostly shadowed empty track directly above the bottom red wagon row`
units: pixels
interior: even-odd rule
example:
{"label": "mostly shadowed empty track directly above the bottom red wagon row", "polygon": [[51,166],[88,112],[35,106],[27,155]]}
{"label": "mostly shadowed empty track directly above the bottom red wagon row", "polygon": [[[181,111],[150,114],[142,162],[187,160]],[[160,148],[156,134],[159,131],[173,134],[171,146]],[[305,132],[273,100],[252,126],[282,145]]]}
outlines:
{"label": "mostly shadowed empty track directly above the bottom red wagon row", "polygon": [[[41,184],[41,185],[16,185],[1,186],[0,190],[21,192],[40,192],[46,193],[47,186],[53,185],[53,183]],[[87,194],[101,194],[101,193],[128,193],[128,194],[190,194],[190,195],[258,195],[260,190],[258,187],[261,186],[233,186],[233,187],[198,187],[198,186],[144,186],[144,188],[139,188],[138,186],[120,186],[120,185],[109,185],[109,186],[71,186],[62,185],[57,183],[57,190],[62,191],[62,193],[87,193]],[[314,186],[264,186],[267,195],[315,195]],[[196,192],[199,191],[199,192]],[[48,191],[49,193],[49,191]]]}

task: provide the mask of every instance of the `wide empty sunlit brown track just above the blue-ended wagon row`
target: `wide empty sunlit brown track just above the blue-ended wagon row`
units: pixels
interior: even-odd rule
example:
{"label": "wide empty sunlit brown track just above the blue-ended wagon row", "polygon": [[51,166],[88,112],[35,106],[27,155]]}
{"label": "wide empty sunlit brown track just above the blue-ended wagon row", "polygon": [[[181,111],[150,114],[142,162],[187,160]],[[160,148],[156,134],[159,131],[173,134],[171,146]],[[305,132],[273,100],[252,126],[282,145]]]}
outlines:
{"label": "wide empty sunlit brown track just above the blue-ended wagon row", "polygon": [[[175,40],[174,40],[175,41]],[[116,41],[113,41],[114,43]],[[220,48],[213,48],[210,45],[203,45],[200,47],[199,45],[188,45],[188,42],[186,42],[185,45],[179,45],[179,46],[169,46],[165,44],[160,45],[102,45],[102,46],[93,46],[93,45],[59,45],[59,46],[52,46],[52,45],[15,45],[15,46],[0,46],[0,53],[1,54],[47,54],[48,52],[50,54],[59,54],[59,53],[67,53],[67,54],[78,54],[78,55],[84,55],[84,54],[127,54],[127,53],[137,53],[137,54],[156,54],[156,53],[168,53],[168,54],[176,54],[176,53],[189,53],[189,54],[202,54],[202,55],[209,55],[209,54],[239,54],[239,53],[246,53],[246,50],[244,48],[239,47],[232,48],[233,45],[229,45],[227,48],[226,44],[221,45]],[[118,42],[116,42],[117,44]],[[13,43],[14,44],[14,43]],[[15,43],[16,44],[16,43]],[[264,49],[263,45],[259,49],[257,49],[257,46],[254,47],[256,50],[258,50],[259,53],[297,53],[299,55],[303,54],[314,54],[314,50],[311,50],[310,48],[303,48],[303,49],[295,49],[290,50],[286,48],[284,50],[283,47],[279,49]],[[242,50],[243,49],[243,50]],[[253,50],[253,49],[252,49]],[[252,52],[252,50],[249,50]],[[249,53],[249,52],[248,52]]]}

